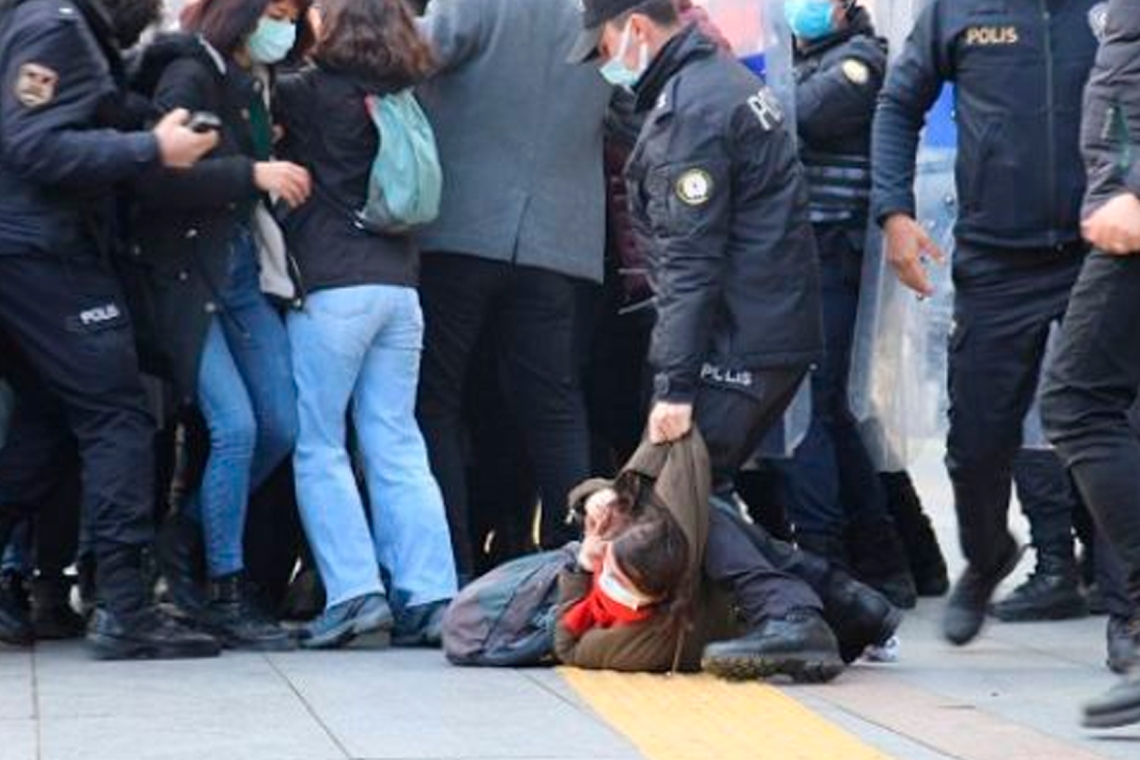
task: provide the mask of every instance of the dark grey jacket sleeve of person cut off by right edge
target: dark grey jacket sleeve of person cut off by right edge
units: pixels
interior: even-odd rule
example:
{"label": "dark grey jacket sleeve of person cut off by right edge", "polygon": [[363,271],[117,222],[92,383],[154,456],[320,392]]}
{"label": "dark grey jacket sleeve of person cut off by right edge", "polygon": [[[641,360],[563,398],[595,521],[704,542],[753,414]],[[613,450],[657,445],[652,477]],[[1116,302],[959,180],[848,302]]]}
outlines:
{"label": "dark grey jacket sleeve of person cut off by right edge", "polygon": [[1121,193],[1140,196],[1140,5],[1110,0],[1097,22],[1105,41],[1084,92],[1081,129],[1086,214]]}

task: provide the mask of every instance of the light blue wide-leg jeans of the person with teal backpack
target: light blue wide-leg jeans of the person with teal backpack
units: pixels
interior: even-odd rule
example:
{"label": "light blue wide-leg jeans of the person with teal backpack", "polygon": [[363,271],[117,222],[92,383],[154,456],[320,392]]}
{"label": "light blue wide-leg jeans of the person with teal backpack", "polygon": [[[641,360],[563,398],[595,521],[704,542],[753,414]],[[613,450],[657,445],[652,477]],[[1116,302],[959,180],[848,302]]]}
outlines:
{"label": "light blue wide-leg jeans of the person with teal backpack", "polygon": [[[398,608],[455,596],[443,499],[415,417],[423,330],[408,287],[320,291],[290,314],[298,500],[328,606],[382,593],[380,567]],[[348,452],[350,407],[370,528]]]}

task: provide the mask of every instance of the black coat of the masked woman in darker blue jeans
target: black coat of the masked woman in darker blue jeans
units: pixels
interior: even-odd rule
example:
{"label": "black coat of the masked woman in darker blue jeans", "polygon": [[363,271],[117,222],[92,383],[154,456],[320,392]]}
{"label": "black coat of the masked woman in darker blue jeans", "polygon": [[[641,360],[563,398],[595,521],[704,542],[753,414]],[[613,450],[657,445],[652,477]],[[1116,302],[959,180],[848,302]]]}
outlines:
{"label": "black coat of the masked woman in darker blue jeans", "polygon": [[132,87],[160,112],[205,111],[221,119],[220,142],[188,170],[152,171],[133,185],[131,240],[120,270],[152,371],[174,382],[180,402],[197,398],[206,332],[223,305],[230,245],[249,229],[253,181],[253,79],[197,38],[171,35],[144,54]]}

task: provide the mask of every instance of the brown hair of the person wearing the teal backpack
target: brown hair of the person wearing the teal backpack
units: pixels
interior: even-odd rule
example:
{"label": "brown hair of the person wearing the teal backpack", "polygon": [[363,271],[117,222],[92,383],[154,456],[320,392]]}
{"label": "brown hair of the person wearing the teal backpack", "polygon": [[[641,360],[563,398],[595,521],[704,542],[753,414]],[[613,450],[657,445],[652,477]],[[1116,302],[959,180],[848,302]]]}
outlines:
{"label": "brown hair of the person wearing the teal backpack", "polygon": [[434,66],[404,0],[329,0],[312,57],[325,68],[398,87],[418,82]]}

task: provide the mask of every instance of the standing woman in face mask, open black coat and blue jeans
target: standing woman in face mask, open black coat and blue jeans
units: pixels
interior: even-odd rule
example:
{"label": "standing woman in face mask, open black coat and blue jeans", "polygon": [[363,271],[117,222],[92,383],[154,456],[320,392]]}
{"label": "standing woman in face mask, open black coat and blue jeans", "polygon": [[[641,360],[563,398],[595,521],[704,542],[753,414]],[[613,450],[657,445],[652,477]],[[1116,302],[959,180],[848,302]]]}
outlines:
{"label": "standing woman in face mask, open black coat and blue jeans", "polygon": [[[135,316],[148,325],[179,402],[196,407],[209,430],[201,483],[178,517],[204,537],[204,595],[190,590],[196,579],[184,564],[166,561],[164,570],[184,612],[234,648],[292,645],[253,602],[244,533],[251,492],[296,436],[288,338],[261,292],[254,212],[263,196],[300,205],[310,179],[271,160],[272,122],[252,71],[290,52],[296,11],[268,0],[199,0],[186,10],[188,34],[156,40],[135,77],[160,108],[218,120],[219,146],[196,167],[137,183],[128,260],[146,269]],[[168,546],[163,556],[180,551]]]}

